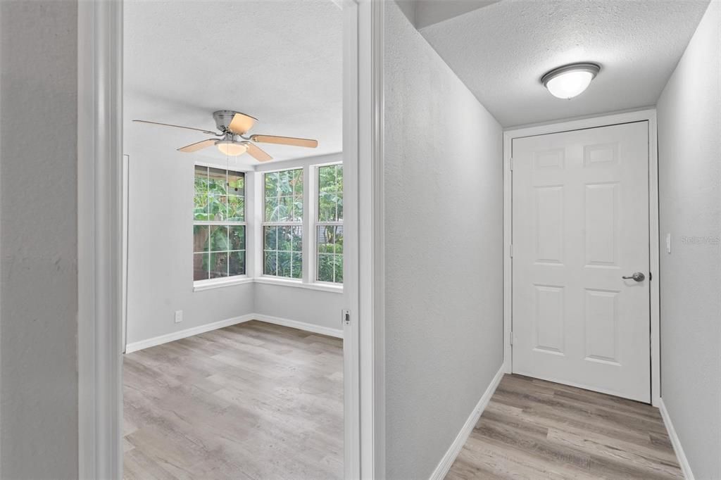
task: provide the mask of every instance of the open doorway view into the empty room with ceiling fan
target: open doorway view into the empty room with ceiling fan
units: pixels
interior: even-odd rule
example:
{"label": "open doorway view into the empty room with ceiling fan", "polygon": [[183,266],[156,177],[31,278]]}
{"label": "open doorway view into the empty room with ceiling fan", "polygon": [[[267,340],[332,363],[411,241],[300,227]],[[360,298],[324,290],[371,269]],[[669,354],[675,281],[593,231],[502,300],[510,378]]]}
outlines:
{"label": "open doorway view into the empty room with ceiling fan", "polygon": [[169,13],[124,2],[125,476],[339,478],[343,9]]}

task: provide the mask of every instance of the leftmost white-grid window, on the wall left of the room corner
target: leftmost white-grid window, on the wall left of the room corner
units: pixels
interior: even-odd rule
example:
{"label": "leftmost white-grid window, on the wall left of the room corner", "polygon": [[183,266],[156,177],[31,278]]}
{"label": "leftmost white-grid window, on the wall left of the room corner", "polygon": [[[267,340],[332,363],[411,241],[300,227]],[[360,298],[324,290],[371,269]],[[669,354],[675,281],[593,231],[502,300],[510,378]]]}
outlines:
{"label": "leftmost white-grid window, on the wall left of the room corner", "polygon": [[245,174],[195,166],[193,280],[245,275]]}

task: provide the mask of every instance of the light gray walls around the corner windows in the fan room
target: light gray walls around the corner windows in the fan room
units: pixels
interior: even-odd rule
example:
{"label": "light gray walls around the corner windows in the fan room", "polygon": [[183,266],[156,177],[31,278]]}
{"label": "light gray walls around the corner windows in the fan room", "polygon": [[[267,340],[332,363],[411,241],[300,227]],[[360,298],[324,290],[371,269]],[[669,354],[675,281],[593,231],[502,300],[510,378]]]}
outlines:
{"label": "light gray walls around the corner windows in the fan room", "polygon": [[[341,329],[343,295],[285,285],[244,283],[193,291],[193,165],[203,157],[128,141],[130,156],[128,225],[128,344],[216,321],[259,314]],[[340,161],[340,154],[262,165],[283,169]],[[205,159],[207,161],[207,159]],[[230,168],[234,168],[231,164]],[[253,244],[261,241],[253,225],[254,178],[247,172],[248,272]],[[257,198],[257,197],[256,197]],[[257,235],[252,234],[255,228]],[[260,265],[262,256],[255,260]],[[174,322],[176,310],[183,321]]]}

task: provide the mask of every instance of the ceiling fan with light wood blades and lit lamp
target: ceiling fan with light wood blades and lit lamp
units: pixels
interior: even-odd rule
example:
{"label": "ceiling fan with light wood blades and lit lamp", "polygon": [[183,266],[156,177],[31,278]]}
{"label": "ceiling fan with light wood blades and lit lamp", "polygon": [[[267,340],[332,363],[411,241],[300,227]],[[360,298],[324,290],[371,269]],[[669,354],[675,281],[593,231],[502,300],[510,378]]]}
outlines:
{"label": "ceiling fan with light wood blades and lit lamp", "polygon": [[278,145],[291,145],[306,148],[316,148],[318,146],[318,141],[312,140],[311,138],[280,137],[278,135],[246,136],[249,130],[253,128],[257,122],[257,118],[245,115],[241,112],[235,112],[234,110],[218,110],[217,112],[213,112],[213,118],[216,120],[216,127],[220,130],[220,133],[213,132],[211,130],[203,130],[202,128],[151,122],[150,120],[133,120],[133,122],[185,128],[186,130],[197,130],[198,132],[218,137],[208,138],[207,140],[190,143],[190,145],[178,148],[178,151],[189,154],[215,145],[221,153],[228,156],[239,156],[247,153],[257,161],[268,161],[273,160],[273,157],[268,155],[266,151],[257,146],[255,143],[276,143]]}

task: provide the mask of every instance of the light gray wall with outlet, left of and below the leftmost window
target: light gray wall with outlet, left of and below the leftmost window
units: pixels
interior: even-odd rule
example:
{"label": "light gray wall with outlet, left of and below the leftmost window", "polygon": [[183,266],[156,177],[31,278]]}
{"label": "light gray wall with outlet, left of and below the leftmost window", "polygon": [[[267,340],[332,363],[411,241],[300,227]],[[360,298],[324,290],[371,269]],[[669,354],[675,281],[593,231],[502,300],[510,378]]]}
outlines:
{"label": "light gray wall with outlet, left of and below the leftmost window", "polygon": [[[128,343],[251,314],[250,283],[193,291],[193,175],[200,160],[131,143]],[[183,320],[175,323],[176,310]]]}

